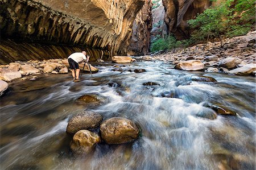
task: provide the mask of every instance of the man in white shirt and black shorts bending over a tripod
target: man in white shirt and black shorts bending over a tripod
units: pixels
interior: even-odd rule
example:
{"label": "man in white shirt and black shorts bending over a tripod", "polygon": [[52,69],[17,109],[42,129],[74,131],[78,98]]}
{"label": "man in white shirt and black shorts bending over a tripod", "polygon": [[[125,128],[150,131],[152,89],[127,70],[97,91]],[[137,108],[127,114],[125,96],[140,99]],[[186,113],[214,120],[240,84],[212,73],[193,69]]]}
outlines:
{"label": "man in white shirt and black shorts bending over a tripod", "polygon": [[87,56],[85,51],[72,53],[72,55],[68,57],[68,63],[69,67],[71,68],[74,81],[79,80],[79,63],[82,63],[82,61],[85,60],[88,62],[89,58],[90,56]]}

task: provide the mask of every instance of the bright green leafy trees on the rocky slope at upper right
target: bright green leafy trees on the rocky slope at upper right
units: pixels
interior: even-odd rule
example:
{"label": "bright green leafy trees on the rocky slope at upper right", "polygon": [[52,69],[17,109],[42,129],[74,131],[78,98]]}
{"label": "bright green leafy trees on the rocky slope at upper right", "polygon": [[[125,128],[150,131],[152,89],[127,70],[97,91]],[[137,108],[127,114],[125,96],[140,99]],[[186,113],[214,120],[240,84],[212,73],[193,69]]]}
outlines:
{"label": "bright green leafy trees on the rocky slope at upper right", "polygon": [[196,41],[245,35],[255,23],[254,0],[228,0],[191,19],[188,24],[196,28],[192,39]]}

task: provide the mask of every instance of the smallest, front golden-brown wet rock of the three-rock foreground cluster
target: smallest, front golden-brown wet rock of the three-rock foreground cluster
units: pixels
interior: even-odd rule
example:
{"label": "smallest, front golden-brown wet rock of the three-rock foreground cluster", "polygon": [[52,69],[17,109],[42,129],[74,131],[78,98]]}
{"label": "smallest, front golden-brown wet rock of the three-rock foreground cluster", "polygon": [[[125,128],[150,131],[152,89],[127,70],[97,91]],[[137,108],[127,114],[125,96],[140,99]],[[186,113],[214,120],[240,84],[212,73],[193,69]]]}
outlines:
{"label": "smallest, front golden-brown wet rock of the three-rock foreground cluster", "polygon": [[100,143],[100,141],[101,138],[98,134],[89,130],[80,130],[73,136],[71,150],[76,155],[89,154],[95,144]]}

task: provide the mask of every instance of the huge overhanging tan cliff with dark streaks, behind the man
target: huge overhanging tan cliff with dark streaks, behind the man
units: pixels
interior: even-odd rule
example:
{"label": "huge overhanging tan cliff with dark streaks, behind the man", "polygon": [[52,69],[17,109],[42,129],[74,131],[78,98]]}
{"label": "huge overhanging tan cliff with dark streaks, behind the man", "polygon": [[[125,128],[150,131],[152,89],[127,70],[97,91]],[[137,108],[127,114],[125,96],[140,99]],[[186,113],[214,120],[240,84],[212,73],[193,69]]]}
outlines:
{"label": "huge overhanging tan cliff with dark streaks, behind the man", "polygon": [[[3,41],[12,39],[18,44],[64,44],[85,48],[94,56],[92,59],[105,57],[106,60],[113,55],[126,55],[135,16],[145,1],[1,0],[1,38]],[[32,44],[31,48],[36,46]],[[52,50],[55,49],[51,48],[49,52]],[[17,51],[24,57],[22,49]],[[61,55],[68,55],[65,49],[60,51],[64,51],[59,52]],[[6,46],[1,46],[1,54],[6,58],[12,56]]]}

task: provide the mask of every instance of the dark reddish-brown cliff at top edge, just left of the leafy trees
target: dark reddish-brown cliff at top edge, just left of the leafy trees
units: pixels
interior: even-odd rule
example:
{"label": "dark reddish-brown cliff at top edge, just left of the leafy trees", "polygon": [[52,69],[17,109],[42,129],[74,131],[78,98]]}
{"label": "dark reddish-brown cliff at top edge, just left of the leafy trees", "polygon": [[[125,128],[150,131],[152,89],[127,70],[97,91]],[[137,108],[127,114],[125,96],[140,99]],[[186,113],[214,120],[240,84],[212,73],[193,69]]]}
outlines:
{"label": "dark reddish-brown cliff at top edge, just left of the leafy trees", "polygon": [[165,21],[170,33],[177,39],[187,39],[191,30],[187,20],[208,9],[212,2],[207,0],[163,0],[166,9]]}

